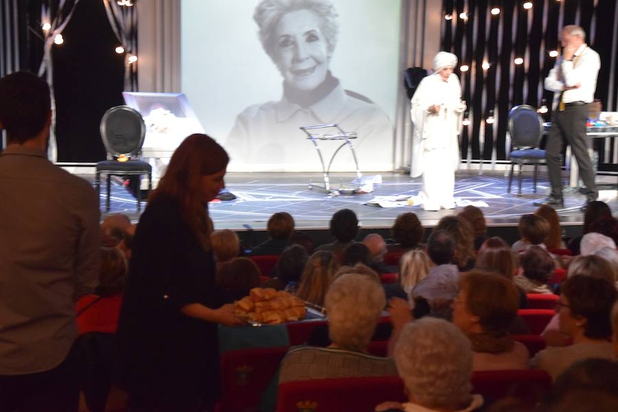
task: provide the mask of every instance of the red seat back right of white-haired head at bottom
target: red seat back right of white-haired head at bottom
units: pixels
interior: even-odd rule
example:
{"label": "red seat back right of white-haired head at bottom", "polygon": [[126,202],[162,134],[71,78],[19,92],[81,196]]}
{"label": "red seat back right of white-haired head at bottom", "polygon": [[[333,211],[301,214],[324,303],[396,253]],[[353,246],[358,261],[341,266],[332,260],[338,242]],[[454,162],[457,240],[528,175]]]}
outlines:
{"label": "red seat back right of white-haired head at bottom", "polygon": [[532,407],[544,398],[550,387],[551,376],[539,369],[477,371],[472,374],[472,393],[480,393],[488,401],[513,396]]}

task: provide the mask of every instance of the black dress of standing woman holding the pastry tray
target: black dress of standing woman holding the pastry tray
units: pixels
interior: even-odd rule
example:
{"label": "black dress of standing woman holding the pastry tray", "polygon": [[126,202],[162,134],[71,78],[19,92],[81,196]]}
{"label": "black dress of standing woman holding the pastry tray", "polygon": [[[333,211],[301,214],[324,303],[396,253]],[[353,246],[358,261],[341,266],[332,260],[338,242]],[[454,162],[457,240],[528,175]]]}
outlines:
{"label": "black dress of standing woman holding the pastry tray", "polygon": [[120,311],[119,383],[137,409],[187,410],[219,393],[216,323],[181,313],[218,308],[211,252],[198,244],[178,202],[157,198],[137,231]]}

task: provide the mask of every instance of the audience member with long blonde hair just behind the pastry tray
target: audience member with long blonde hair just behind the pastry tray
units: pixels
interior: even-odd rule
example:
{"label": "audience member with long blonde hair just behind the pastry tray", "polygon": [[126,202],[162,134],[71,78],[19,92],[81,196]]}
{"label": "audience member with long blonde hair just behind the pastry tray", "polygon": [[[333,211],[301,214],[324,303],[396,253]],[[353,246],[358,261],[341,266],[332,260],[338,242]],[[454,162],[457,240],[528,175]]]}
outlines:
{"label": "audience member with long blonde hair just behind the pastry tray", "polygon": [[327,251],[311,255],[301,275],[296,296],[317,306],[324,306],[324,297],[328,286],[339,268],[335,256]]}

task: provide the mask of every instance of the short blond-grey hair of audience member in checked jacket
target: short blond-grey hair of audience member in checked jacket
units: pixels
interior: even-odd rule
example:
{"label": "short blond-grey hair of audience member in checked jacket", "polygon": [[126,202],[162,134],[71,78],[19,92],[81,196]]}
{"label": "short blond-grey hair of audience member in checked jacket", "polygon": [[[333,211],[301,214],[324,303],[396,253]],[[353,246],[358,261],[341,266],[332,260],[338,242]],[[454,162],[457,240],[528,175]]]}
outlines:
{"label": "short blond-grey hair of audience member in checked jacket", "polygon": [[336,278],[325,298],[330,340],[345,350],[365,351],[385,305],[384,288],[375,279],[358,273]]}

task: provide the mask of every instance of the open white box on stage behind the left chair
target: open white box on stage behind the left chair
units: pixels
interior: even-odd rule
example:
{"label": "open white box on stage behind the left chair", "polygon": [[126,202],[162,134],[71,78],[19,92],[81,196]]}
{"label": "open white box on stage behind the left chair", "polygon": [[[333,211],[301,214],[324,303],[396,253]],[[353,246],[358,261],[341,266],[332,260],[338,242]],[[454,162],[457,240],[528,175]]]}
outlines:
{"label": "open white box on stage behind the left chair", "polygon": [[[188,135],[204,133],[204,128],[184,93],[124,91],[122,97],[126,105],[135,108],[146,123],[141,156],[142,160],[152,165],[152,187],[157,187],[174,150]],[[148,187],[146,179],[141,187]]]}

